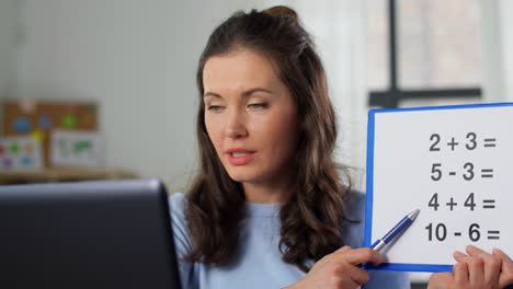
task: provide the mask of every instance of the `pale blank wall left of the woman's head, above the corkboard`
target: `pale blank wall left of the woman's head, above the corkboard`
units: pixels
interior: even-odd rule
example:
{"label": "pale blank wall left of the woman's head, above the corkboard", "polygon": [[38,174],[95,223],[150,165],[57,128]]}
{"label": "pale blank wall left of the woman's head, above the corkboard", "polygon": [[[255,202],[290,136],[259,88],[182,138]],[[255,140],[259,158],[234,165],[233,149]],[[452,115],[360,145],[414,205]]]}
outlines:
{"label": "pale blank wall left of the woman's head, above the corkboard", "polygon": [[196,155],[197,59],[236,4],[26,0],[18,95],[96,100],[107,165],[182,189]]}

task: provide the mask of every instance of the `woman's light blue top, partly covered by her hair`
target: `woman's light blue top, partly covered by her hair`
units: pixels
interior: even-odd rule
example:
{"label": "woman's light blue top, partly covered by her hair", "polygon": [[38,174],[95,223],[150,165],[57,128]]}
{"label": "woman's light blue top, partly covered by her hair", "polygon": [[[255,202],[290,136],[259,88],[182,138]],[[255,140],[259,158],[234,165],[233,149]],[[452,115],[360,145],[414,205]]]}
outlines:
{"label": "woman's light blue top, partly covered by her hair", "polygon": [[[170,197],[171,221],[178,257],[191,248],[191,236],[184,217],[185,195]],[[235,261],[227,266],[207,266],[179,261],[183,288],[283,288],[303,278],[305,273],[296,265],[282,261],[280,243],[280,204],[247,203],[244,226]],[[352,193],[347,201],[349,218],[358,223],[343,226],[344,244],[364,245],[363,194]],[[410,288],[408,275],[398,271],[369,271],[371,280],[363,288]]]}

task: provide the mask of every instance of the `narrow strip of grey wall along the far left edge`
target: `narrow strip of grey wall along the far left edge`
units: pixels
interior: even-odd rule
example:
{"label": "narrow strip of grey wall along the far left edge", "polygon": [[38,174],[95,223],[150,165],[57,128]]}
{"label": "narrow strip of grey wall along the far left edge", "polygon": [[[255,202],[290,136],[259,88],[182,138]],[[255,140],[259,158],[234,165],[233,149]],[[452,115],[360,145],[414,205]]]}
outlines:
{"label": "narrow strip of grey wall along the far left edge", "polygon": [[0,1],[0,97],[11,96],[15,86],[19,5]]}

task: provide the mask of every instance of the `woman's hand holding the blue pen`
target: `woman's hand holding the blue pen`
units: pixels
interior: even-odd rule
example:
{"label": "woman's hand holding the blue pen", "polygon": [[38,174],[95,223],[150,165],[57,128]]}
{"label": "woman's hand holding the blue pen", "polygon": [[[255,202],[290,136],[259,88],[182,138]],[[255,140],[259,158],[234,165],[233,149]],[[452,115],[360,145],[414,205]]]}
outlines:
{"label": "woman's hand holding the blue pen", "polygon": [[287,288],[358,288],[369,278],[358,265],[368,262],[379,265],[383,259],[383,255],[372,248],[343,246],[318,261],[303,279]]}

